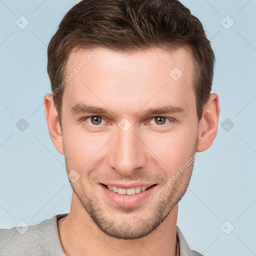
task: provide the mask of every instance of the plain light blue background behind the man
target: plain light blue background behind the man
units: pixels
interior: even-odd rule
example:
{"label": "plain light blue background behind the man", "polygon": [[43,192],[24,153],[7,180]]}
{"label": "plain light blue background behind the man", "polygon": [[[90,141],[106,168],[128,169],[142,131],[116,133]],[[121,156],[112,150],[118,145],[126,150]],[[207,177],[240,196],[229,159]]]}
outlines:
{"label": "plain light blue background behind the man", "polygon": [[[21,220],[31,225],[69,211],[72,190],[64,158],[49,138],[42,102],[50,91],[47,44],[77,2],[0,1],[0,227]],[[189,246],[205,255],[253,255],[256,1],[181,2],[201,20],[211,41],[216,56],[212,91],[219,95],[221,111],[215,141],[196,160],[179,203],[177,224]],[[15,24],[21,15],[29,21],[24,29]],[[220,23],[226,15],[234,21],[229,29]],[[15,125],[21,118],[29,124],[24,131]],[[226,118],[234,124],[229,131],[220,125]],[[229,234],[220,228],[226,220],[234,226]]]}

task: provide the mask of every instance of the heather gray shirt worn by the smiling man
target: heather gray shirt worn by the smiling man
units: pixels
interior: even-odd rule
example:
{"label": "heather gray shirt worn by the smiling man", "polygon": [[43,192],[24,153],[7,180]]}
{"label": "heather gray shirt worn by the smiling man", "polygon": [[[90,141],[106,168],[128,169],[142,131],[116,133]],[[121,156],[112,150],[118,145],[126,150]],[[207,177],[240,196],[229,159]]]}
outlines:
{"label": "heather gray shirt worn by the smiling man", "polygon": [[[57,229],[58,214],[36,225],[0,229],[0,256],[65,256]],[[179,228],[176,228],[180,256],[202,256],[191,250]]]}

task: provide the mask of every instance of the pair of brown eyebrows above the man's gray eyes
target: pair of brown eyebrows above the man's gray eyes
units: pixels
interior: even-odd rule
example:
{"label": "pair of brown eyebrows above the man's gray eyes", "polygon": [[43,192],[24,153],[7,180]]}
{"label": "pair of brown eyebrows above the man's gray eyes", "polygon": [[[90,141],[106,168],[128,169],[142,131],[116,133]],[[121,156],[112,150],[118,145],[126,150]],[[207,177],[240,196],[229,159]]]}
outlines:
{"label": "pair of brown eyebrows above the man's gray eyes", "polygon": [[[137,111],[141,112],[142,108]],[[157,108],[148,108],[143,113],[145,115],[150,115],[150,114],[165,114],[165,113],[184,113],[185,109],[180,106],[173,106],[173,105],[166,105],[162,107],[157,107]],[[106,114],[106,115],[111,115],[111,111],[108,109],[102,108],[102,107],[97,107],[97,106],[92,106],[92,105],[86,105],[86,104],[76,104],[73,107],[71,107],[71,113],[73,114],[81,114],[81,113],[95,113],[95,114]],[[136,113],[136,114],[137,114]],[[135,114],[135,115],[136,115]]]}

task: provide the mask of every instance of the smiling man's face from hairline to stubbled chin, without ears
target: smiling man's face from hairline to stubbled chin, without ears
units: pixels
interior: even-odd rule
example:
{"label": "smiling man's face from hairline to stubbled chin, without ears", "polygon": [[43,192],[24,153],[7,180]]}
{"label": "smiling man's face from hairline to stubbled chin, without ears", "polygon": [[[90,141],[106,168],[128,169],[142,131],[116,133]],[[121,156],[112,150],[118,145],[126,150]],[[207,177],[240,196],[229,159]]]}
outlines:
{"label": "smiling man's face from hairline to stubbled chin, without ears", "polygon": [[103,232],[139,238],[164,220],[190,180],[198,131],[192,54],[93,50],[73,50],[67,62],[66,73],[77,73],[62,98],[66,168]]}

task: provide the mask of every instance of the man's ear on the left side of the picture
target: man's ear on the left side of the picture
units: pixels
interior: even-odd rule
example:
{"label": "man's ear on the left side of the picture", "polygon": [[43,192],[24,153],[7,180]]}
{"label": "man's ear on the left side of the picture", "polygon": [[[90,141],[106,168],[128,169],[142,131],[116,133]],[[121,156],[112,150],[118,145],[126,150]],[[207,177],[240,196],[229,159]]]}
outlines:
{"label": "man's ear on the left side of the picture", "polygon": [[62,132],[59,125],[58,113],[55,108],[52,94],[47,93],[43,99],[44,114],[47,121],[50,138],[55,148],[61,153],[63,152]]}

